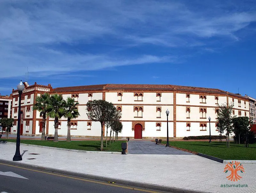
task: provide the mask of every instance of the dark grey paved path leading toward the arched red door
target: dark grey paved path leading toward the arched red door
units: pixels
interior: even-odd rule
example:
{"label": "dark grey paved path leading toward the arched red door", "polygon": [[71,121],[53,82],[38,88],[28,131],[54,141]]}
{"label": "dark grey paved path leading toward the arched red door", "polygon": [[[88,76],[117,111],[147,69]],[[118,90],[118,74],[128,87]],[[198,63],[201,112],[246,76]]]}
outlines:
{"label": "dark grey paved path leading toward the arched red door", "polygon": [[128,142],[129,154],[165,154],[165,155],[193,155],[189,152],[168,148],[165,145],[158,144],[148,140],[130,140]]}

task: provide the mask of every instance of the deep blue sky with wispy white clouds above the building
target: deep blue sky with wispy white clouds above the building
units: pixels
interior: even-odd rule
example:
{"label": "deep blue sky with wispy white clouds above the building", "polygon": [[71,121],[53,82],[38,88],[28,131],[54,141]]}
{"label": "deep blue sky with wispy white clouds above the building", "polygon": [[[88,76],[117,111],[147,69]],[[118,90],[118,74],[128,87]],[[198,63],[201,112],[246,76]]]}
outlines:
{"label": "deep blue sky with wispy white clouds above the building", "polygon": [[256,98],[254,0],[1,0],[0,93],[171,84]]}

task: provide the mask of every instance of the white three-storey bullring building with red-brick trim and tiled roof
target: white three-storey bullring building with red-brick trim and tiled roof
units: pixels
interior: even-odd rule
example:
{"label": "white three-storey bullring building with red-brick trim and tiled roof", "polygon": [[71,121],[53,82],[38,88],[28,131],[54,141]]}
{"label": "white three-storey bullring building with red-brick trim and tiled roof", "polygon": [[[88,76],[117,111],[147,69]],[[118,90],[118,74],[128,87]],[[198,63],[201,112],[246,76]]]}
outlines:
{"label": "white three-storey bullring building with red-brick trim and tiled roof", "polygon": [[[71,120],[71,137],[100,138],[100,122],[93,122],[86,115],[89,100],[112,102],[122,112],[122,133],[119,137],[137,139],[166,137],[168,109],[169,137],[179,139],[185,136],[219,135],[217,124],[218,104],[234,103],[233,115],[249,116],[249,99],[220,89],[177,85],[134,85],[104,84],[52,88],[51,84],[28,85],[21,95],[21,135],[41,135],[42,117],[33,111],[36,96],[43,93],[61,94],[64,99],[72,97],[79,102],[80,116]],[[12,90],[12,133],[17,132],[18,90]],[[46,135],[54,135],[54,120],[47,117]],[[104,131],[106,135],[106,130]],[[59,137],[67,136],[67,120],[59,120]]]}

